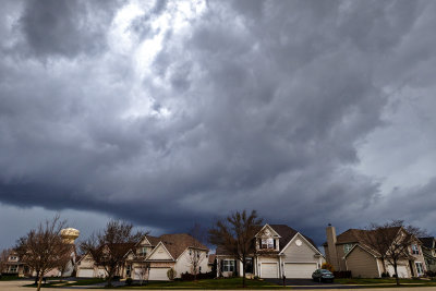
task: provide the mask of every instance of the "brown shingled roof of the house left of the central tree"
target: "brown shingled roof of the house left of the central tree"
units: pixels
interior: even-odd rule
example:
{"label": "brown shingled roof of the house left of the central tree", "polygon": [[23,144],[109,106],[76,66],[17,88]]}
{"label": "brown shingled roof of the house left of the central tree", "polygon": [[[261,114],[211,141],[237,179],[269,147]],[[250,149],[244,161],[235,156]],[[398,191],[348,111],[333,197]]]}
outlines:
{"label": "brown shingled roof of the house left of the central tree", "polygon": [[204,244],[187,233],[162,234],[157,239],[159,242],[164,243],[165,247],[167,247],[168,252],[170,252],[174,259],[177,259],[187,247],[208,251]]}

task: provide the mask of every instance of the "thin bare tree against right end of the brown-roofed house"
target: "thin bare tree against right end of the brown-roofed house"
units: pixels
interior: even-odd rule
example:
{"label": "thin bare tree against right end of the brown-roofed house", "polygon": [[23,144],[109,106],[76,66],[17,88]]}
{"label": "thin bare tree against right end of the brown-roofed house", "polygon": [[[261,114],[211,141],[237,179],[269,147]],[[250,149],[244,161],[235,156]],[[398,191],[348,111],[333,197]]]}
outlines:
{"label": "thin bare tree against right end of the brown-roofed house", "polygon": [[203,244],[207,239],[206,233],[206,230],[204,230],[198,223],[195,223],[190,231],[190,234],[194,238],[194,240],[192,240],[192,245],[189,248],[190,255],[187,257],[187,262],[191,267],[191,274],[194,275],[195,281],[197,280],[199,267],[203,260],[206,259],[206,254],[208,252]]}

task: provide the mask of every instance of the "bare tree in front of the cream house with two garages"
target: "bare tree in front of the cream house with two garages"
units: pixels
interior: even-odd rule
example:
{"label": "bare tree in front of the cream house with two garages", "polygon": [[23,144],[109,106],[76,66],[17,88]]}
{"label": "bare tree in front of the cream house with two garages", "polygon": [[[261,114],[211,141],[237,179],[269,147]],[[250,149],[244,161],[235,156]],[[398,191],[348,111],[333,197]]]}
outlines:
{"label": "bare tree in front of the cream house with two garages", "polygon": [[218,220],[209,230],[211,244],[221,246],[235,259],[242,262],[244,288],[246,257],[255,252],[254,235],[259,230],[262,220],[257,217],[256,210],[252,210],[250,215],[245,210],[235,211],[226,219]]}

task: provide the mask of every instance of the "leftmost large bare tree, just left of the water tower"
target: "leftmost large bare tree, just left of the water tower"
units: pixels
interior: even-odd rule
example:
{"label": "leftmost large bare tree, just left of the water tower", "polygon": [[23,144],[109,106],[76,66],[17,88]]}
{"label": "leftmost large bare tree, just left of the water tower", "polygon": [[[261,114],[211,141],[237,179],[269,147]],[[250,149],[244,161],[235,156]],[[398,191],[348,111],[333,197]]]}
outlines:
{"label": "leftmost large bare tree, just left of the water tower", "polygon": [[20,260],[29,266],[37,276],[37,290],[40,290],[43,277],[51,269],[60,268],[63,255],[70,252],[70,245],[61,237],[65,221],[59,215],[39,223],[36,229],[19,239],[15,251]]}

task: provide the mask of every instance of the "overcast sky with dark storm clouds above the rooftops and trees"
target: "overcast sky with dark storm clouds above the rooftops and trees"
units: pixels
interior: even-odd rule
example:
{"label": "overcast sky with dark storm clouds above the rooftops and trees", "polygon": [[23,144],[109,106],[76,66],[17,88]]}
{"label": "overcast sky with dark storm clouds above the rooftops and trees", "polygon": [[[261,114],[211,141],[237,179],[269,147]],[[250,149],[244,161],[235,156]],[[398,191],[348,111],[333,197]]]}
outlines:
{"label": "overcast sky with dark storm clouds above the rooftops and trees", "polygon": [[0,247],[257,209],[436,220],[436,1],[2,1]]}

